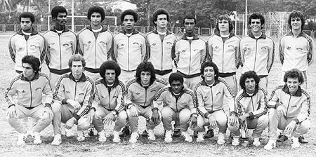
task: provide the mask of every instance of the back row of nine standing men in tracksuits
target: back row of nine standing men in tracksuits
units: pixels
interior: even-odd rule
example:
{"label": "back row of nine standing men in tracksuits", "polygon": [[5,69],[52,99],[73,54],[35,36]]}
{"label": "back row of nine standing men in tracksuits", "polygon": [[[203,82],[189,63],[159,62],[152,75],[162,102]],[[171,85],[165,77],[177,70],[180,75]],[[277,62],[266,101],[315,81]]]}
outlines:
{"label": "back row of nine standing men in tracksuits", "polygon": [[[54,86],[60,86],[56,83],[59,76],[71,71],[67,63],[70,56],[79,53],[86,60],[85,74],[95,81],[100,77],[99,67],[105,60],[114,60],[119,64],[119,79],[124,83],[135,76],[136,67],[140,62],[149,60],[154,65],[158,78],[167,81],[171,72],[176,69],[184,77],[184,84],[193,89],[201,79],[201,64],[206,60],[213,60],[219,69],[218,76],[228,82],[234,96],[237,95],[236,71],[240,64],[243,66],[243,73],[249,70],[256,71],[261,78],[260,86],[267,91],[268,73],[274,60],[275,44],[270,37],[261,32],[264,18],[258,13],[249,17],[251,33],[242,40],[232,33],[230,18],[227,15],[220,15],[216,20],[217,32],[207,42],[195,35],[197,21],[190,15],[183,20],[185,35],[177,39],[175,34],[167,30],[169,14],[164,9],[155,11],[153,22],[157,29],[146,36],[134,29],[138,15],[131,10],[121,14],[124,29],[114,37],[101,25],[105,19],[103,8],[89,8],[88,19],[91,20],[91,25],[81,30],[77,36],[65,27],[65,8],[56,6],[51,14],[55,27],[46,32],[43,38],[32,29],[32,13],[22,13],[22,29],[11,37],[9,50],[16,63],[17,73],[22,72],[20,60],[24,55],[35,55],[41,62],[46,59],[53,89]],[[301,12],[291,13],[291,32],[283,36],[279,42],[283,75],[290,69],[299,69],[304,76],[301,83],[306,82],[305,71],[312,63],[313,51],[312,39],[301,32],[303,25],[304,18]],[[306,84],[303,88],[306,88]]]}

